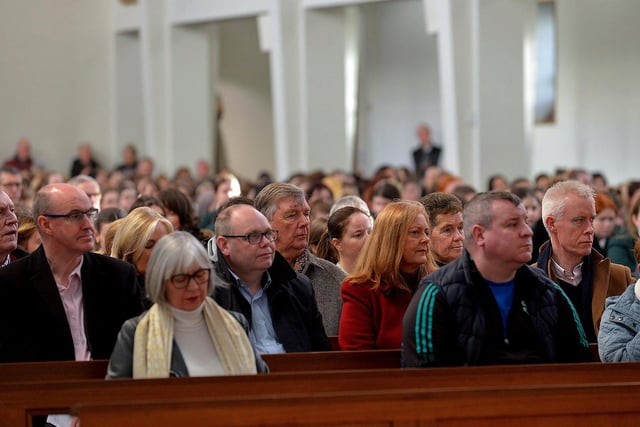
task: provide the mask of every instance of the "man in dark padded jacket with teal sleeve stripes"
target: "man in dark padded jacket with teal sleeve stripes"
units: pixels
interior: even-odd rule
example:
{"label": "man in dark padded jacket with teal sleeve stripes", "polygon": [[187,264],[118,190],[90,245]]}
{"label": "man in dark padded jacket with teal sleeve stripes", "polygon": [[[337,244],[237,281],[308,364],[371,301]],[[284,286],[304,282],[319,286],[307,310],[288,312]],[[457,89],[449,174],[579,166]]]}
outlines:
{"label": "man in dark padded jacket with teal sleeve stripes", "polygon": [[520,199],[504,191],[465,206],[465,250],[422,279],[405,313],[405,366],[592,360],[571,302],[526,264],[526,217]]}

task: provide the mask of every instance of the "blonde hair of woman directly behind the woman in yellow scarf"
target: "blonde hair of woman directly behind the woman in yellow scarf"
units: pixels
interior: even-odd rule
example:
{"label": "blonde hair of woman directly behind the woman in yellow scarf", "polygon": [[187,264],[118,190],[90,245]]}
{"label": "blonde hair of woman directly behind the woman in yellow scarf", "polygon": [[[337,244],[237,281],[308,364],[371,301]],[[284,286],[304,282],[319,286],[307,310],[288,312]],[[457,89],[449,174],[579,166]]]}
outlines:
{"label": "blonde hair of woman directly behind the woman in yellow scarf", "polygon": [[126,217],[118,220],[111,245],[111,256],[135,264],[142,256],[158,224],[164,225],[167,233],[173,231],[171,222],[151,208],[139,207],[131,211]]}

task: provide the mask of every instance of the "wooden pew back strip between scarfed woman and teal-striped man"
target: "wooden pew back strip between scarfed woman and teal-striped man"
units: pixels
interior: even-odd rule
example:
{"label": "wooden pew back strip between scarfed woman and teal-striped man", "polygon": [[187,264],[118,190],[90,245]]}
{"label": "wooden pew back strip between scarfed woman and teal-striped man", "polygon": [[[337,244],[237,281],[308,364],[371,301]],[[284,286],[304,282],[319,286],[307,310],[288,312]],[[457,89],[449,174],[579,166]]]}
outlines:
{"label": "wooden pew back strip between scarfed woman and teal-striped man", "polygon": [[400,349],[264,354],[271,372],[400,367]]}

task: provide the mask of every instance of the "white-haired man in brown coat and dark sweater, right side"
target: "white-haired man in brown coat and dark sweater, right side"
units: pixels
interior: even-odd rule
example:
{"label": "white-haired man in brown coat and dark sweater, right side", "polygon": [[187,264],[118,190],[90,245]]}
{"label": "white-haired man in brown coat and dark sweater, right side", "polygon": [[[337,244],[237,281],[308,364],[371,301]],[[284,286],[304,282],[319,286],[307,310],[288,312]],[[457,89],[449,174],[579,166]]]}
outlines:
{"label": "white-haired man in brown coat and dark sweater, right side", "polygon": [[540,247],[539,267],[573,303],[589,342],[596,342],[605,299],[634,282],[629,267],[593,249],[594,191],[579,181],[561,181],[542,198],[549,241]]}

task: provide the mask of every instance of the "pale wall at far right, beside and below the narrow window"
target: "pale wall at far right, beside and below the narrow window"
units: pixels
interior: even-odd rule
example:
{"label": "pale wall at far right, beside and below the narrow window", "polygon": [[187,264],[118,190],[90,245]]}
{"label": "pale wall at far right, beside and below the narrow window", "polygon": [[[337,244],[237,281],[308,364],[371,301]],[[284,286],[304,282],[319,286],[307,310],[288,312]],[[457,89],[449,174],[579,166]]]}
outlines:
{"label": "pale wall at far right, beside and below the narrow window", "polygon": [[640,2],[558,0],[557,121],[537,126],[533,171],[640,178]]}

